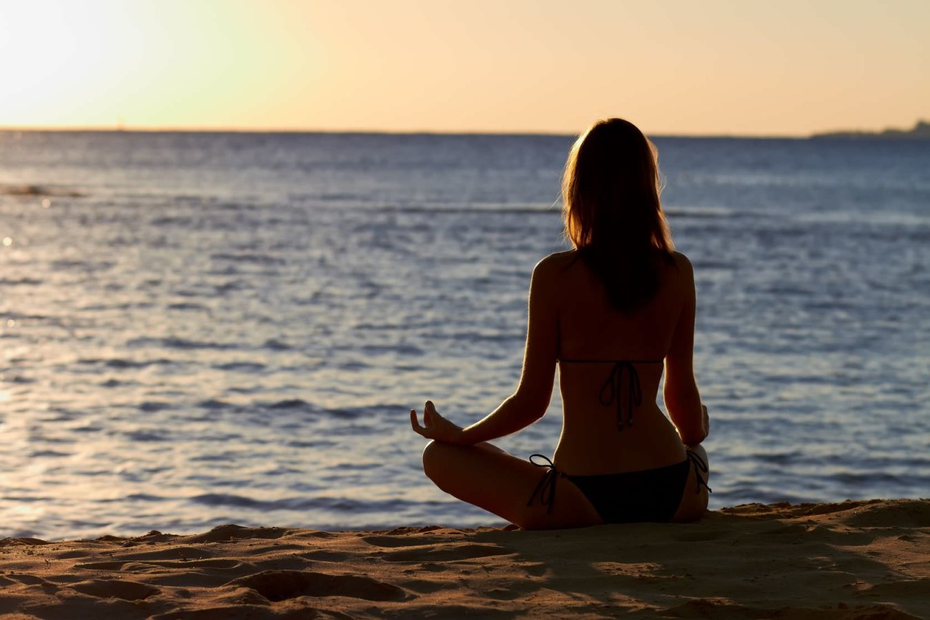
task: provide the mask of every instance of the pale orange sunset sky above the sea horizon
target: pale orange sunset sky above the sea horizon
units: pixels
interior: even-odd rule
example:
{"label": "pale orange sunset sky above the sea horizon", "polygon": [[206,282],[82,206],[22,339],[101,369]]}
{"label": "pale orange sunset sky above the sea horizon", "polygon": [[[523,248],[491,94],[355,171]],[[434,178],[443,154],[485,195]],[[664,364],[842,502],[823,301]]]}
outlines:
{"label": "pale orange sunset sky above the sea horizon", "polygon": [[0,126],[910,127],[928,29],[928,0],[0,0]]}

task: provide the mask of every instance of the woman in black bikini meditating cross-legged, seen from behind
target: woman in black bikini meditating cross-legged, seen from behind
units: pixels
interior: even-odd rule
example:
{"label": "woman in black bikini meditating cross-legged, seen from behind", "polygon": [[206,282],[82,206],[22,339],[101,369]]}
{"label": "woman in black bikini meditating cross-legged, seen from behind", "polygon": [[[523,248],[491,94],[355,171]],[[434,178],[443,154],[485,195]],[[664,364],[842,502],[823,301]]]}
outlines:
{"label": "woman in black bikini meditating cross-legged, seen from behind", "polygon": [[[569,153],[562,193],[574,249],[533,270],[516,392],[467,429],[432,402],[422,426],[411,410],[432,440],[423,468],[446,493],[525,529],[694,521],[709,491],[694,272],[672,248],[656,148],[627,121],[599,121]],[[656,404],[663,363],[671,422]],[[554,463],[488,443],[543,416],[556,364],[565,411]]]}

